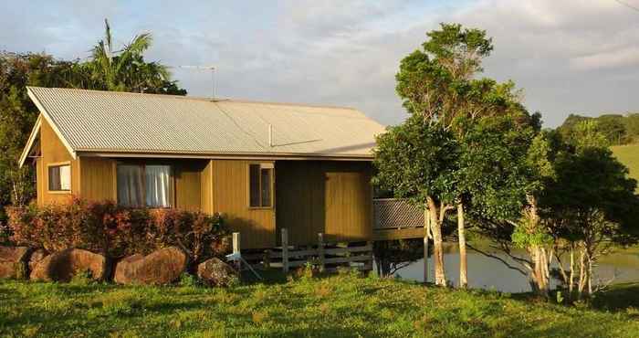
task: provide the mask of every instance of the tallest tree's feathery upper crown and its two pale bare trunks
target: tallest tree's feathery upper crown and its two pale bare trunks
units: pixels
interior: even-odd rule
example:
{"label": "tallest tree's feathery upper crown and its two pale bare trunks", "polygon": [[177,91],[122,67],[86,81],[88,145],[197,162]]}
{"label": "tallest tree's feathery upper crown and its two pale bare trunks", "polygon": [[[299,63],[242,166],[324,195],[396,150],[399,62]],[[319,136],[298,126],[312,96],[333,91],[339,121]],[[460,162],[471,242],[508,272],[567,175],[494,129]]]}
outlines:
{"label": "tallest tree's feathery upper crown and its two pale bare trunks", "polygon": [[[500,102],[496,97],[489,98],[487,94],[497,93],[505,87],[491,79],[473,79],[482,70],[481,60],[493,48],[486,31],[457,24],[442,24],[441,29],[426,35],[428,40],[422,44],[423,50],[416,50],[403,58],[395,77],[396,90],[404,108],[426,121],[429,127],[442,128],[444,131],[453,128],[457,116],[468,115],[474,119],[494,112],[492,105]],[[463,131],[457,129],[456,132]],[[435,282],[445,284],[444,268],[438,267],[440,263],[443,264],[443,258],[438,259],[437,252],[441,251],[441,227],[445,215],[456,209],[462,260],[460,281],[462,286],[466,286],[463,198],[461,192],[451,194],[454,195],[452,199],[434,195],[424,201],[434,235]]]}

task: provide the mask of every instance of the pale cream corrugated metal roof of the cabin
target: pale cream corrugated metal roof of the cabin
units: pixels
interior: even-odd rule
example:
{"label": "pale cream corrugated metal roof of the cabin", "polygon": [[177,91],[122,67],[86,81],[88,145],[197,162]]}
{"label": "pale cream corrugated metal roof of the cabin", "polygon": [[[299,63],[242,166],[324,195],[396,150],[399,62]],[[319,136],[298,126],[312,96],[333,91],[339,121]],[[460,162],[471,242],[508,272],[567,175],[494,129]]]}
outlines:
{"label": "pale cream corrugated metal roof of the cabin", "polygon": [[[384,127],[350,108],[29,87],[77,152],[370,156]],[[268,126],[273,128],[273,146]]]}

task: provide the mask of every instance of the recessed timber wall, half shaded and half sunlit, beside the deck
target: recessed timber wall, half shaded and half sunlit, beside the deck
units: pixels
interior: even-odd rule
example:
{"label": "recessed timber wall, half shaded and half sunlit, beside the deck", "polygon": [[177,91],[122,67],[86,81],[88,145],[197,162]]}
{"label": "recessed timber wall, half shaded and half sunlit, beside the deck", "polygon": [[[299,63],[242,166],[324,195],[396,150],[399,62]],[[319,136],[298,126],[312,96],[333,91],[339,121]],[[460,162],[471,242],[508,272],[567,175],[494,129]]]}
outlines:
{"label": "recessed timber wall, half shaded and half sunlit, beside the deck", "polygon": [[[278,161],[278,234],[288,242],[363,241],[372,238],[372,166],[366,162]],[[278,237],[279,239],[279,237]]]}

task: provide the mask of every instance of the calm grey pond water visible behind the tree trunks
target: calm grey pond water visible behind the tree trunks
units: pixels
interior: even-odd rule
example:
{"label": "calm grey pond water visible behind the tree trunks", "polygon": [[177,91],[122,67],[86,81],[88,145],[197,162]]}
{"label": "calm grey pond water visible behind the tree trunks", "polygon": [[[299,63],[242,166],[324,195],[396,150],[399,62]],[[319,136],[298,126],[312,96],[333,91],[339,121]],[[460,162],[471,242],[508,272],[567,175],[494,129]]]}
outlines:
{"label": "calm grey pond water visible behind the tree trunks", "polygon": [[[491,254],[506,259],[512,265],[519,267],[507,255],[496,250],[481,248]],[[468,284],[471,288],[486,290],[499,290],[503,292],[527,292],[530,291],[529,280],[519,271],[508,269],[508,267],[498,261],[498,259],[488,258],[477,251],[467,250],[468,259]],[[428,259],[428,281],[434,280],[434,269],[432,257]],[[445,246],[445,272],[446,279],[459,284],[459,253],[454,244]],[[398,270],[395,276],[406,280],[424,281],[424,259],[417,260],[409,266]],[[639,249],[619,249],[601,259],[595,269],[593,281],[613,283],[623,283],[629,281],[639,281]],[[552,287],[557,284],[557,280],[551,281]]]}

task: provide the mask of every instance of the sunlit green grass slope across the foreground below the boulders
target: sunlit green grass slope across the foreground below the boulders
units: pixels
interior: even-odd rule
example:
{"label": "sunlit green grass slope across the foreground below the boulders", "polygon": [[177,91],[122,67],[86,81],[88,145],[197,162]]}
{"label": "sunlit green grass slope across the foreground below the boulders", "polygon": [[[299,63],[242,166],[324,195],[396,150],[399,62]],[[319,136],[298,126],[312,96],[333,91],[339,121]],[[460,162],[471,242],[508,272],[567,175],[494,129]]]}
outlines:
{"label": "sunlit green grass slope across the foreground below the boulders", "polygon": [[226,290],[0,281],[0,336],[632,337],[633,314],[348,274]]}

